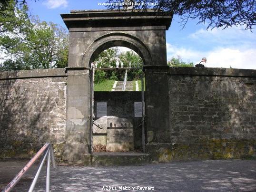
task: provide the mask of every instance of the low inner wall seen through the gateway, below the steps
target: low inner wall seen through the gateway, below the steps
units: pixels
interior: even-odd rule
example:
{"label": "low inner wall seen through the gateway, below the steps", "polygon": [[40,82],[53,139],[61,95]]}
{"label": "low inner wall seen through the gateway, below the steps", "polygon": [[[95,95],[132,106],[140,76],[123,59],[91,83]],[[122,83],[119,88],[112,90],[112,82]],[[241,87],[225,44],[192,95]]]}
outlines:
{"label": "low inner wall seen through the gateway, below the steps", "polygon": [[[107,150],[116,152],[133,151],[134,145],[142,146],[141,118],[134,117],[135,101],[141,101],[141,92],[95,92],[94,112],[97,113],[98,102],[106,102],[107,116],[95,119],[103,128],[93,126],[94,145],[102,144],[107,146]],[[118,135],[113,137],[114,134]],[[128,147],[114,143],[125,143]]]}

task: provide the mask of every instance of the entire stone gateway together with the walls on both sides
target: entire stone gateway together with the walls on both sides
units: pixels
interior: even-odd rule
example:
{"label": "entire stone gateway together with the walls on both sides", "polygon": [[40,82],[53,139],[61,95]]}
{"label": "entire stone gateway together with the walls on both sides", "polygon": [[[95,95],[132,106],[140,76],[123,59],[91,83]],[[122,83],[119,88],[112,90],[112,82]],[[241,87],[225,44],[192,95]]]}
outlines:
{"label": "entire stone gateway together with the walls on both sides", "polygon": [[[255,70],[167,67],[171,17],[156,18],[152,11],[72,11],[62,17],[70,32],[69,67],[0,73],[1,157],[33,155],[51,142],[63,159],[91,163],[89,67],[114,46],[133,49],[144,62],[151,161],[256,156]],[[105,128],[93,134],[107,142],[107,127],[133,127],[139,146],[132,94],[118,102],[111,94],[98,100],[112,107]]]}

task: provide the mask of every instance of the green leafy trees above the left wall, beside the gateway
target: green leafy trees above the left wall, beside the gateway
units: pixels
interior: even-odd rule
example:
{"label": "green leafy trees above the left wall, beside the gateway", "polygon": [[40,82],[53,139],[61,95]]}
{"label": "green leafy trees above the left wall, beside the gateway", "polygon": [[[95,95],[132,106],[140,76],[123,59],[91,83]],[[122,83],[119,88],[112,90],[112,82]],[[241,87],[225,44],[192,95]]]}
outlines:
{"label": "green leafy trees above the left wall, beside the gateway", "polygon": [[[66,67],[68,64],[68,33],[52,22],[28,16],[26,5],[12,1],[5,15],[0,15],[0,51],[4,62],[0,70],[24,70]],[[13,13],[13,16],[6,17]]]}

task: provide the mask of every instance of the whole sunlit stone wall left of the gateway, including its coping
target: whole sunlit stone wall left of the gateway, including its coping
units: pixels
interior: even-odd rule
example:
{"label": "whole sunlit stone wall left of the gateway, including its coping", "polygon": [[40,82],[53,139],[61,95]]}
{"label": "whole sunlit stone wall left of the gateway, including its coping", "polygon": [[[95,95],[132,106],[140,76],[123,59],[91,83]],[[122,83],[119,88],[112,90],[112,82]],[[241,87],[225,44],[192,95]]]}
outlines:
{"label": "whole sunlit stone wall left of the gateway, including its coping", "polygon": [[31,157],[47,142],[61,158],[66,84],[65,69],[0,73],[0,158]]}

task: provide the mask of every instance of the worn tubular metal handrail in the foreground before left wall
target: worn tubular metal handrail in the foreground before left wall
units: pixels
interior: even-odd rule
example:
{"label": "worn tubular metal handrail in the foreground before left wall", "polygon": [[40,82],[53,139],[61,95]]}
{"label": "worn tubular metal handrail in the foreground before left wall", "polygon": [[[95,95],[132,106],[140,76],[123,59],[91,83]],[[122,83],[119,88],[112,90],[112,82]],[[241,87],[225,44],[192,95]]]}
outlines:
{"label": "worn tubular metal handrail in the foreground before left wall", "polygon": [[38,151],[38,153],[30,160],[29,163],[26,164],[26,166],[14,177],[14,179],[4,188],[2,192],[10,192],[14,186],[20,181],[20,179],[23,177],[23,175],[29,171],[30,167],[39,159],[39,157],[43,154],[41,161],[39,163],[39,168],[37,173],[34,176],[34,179],[30,185],[29,192],[32,192],[34,190],[34,187],[36,185],[37,179],[39,177],[40,171],[42,169],[43,163],[47,158],[47,172],[46,172],[46,192],[49,192],[50,188],[50,160],[52,163],[53,168],[56,168],[55,164],[55,158],[53,153],[53,147],[51,143],[46,143],[44,146]]}

